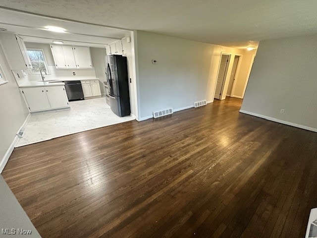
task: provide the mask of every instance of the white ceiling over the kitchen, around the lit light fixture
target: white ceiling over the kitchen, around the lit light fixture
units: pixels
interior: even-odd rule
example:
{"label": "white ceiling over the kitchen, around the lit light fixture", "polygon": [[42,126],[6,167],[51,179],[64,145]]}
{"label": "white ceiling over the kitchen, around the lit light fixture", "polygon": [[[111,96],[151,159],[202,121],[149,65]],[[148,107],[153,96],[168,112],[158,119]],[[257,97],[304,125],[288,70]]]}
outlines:
{"label": "white ceiling over the kitchen, around the lit light fixture", "polygon": [[[48,31],[46,26],[58,26],[66,33]],[[65,21],[34,14],[0,8],[0,28],[15,32],[25,42],[52,44],[61,40],[65,44],[104,48],[106,44],[122,39],[129,31]]]}

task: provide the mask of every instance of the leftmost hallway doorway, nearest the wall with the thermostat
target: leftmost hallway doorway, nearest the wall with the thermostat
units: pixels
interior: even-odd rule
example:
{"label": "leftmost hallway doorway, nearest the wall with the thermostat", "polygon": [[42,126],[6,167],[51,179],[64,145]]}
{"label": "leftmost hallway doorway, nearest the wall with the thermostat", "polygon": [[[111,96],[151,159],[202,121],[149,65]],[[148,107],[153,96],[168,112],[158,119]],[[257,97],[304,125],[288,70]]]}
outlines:
{"label": "leftmost hallway doorway, nearest the wall with the thermostat", "polygon": [[228,66],[230,61],[230,55],[222,54],[220,58],[218,76],[217,76],[217,83],[214,92],[215,99],[221,99],[223,85],[225,83],[225,78],[227,77]]}

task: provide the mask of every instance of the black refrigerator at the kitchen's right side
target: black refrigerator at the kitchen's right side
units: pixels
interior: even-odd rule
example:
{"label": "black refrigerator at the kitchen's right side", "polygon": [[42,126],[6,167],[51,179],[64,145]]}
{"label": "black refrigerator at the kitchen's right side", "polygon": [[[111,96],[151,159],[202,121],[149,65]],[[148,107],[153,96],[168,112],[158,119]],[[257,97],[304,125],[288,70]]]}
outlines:
{"label": "black refrigerator at the kitchen's right side", "polygon": [[129,116],[130,96],[127,58],[120,55],[106,56],[106,76],[111,111],[119,116]]}

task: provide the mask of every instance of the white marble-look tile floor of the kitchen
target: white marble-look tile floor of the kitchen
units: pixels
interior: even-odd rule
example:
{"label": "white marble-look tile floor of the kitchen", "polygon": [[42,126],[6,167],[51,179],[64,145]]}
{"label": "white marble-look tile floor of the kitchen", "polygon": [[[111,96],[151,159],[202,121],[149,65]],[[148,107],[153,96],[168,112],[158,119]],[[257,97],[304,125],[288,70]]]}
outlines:
{"label": "white marble-look tile floor of the kitchen", "polygon": [[32,114],[24,136],[15,147],[134,119],[116,116],[105,98],[73,101],[69,105],[67,110]]}

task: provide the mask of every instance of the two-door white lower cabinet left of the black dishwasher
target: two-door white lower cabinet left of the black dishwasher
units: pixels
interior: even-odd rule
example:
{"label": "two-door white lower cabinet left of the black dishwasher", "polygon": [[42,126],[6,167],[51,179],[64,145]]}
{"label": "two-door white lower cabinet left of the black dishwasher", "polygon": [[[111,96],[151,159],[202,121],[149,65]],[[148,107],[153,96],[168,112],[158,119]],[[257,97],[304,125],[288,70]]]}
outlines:
{"label": "two-door white lower cabinet left of the black dishwasher", "polygon": [[21,88],[30,112],[40,112],[59,108],[68,108],[65,87],[29,87]]}

